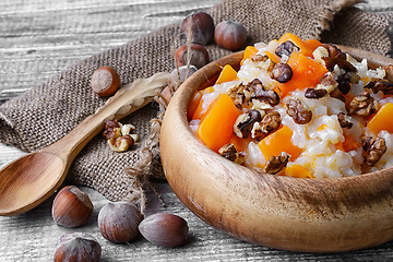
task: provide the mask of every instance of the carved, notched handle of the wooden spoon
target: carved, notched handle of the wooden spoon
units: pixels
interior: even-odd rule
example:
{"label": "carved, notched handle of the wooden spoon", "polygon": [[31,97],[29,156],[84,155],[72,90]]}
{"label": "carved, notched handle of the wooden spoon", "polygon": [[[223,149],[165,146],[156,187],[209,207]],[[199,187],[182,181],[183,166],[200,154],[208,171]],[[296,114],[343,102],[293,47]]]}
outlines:
{"label": "carved, notched handle of the wooden spoon", "polygon": [[167,84],[168,75],[169,73],[164,72],[156,73],[148,79],[138,79],[121,86],[95,114],[40,152],[52,153],[70,165],[87,142],[104,129],[106,121],[121,119],[148,104],[152,97]]}

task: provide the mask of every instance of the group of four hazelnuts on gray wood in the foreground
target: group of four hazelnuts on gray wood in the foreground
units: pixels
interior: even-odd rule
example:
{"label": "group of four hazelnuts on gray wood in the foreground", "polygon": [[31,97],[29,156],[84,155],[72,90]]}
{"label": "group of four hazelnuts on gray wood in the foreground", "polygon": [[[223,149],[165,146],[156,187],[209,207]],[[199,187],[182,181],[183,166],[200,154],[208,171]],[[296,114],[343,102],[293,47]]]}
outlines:
{"label": "group of four hazelnuts on gray wood in the foreground", "polygon": [[[93,203],[88,195],[75,186],[62,188],[52,204],[53,221],[63,227],[84,225],[93,213]],[[100,235],[114,243],[130,242],[140,234],[156,246],[172,248],[187,242],[188,224],[177,215],[156,213],[144,217],[131,202],[108,202],[97,218]],[[99,261],[102,247],[87,233],[63,235],[55,251],[55,262]]]}

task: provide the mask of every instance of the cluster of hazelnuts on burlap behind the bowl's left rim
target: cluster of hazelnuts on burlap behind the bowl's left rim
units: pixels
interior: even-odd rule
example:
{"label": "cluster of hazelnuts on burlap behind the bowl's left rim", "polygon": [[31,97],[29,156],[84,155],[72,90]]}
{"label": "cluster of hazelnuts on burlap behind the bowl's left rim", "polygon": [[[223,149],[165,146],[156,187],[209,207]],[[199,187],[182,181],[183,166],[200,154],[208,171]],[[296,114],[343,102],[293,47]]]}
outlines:
{"label": "cluster of hazelnuts on burlap behind the bowl's left rim", "polygon": [[[190,74],[210,62],[210,56],[205,48],[213,39],[230,51],[246,47],[247,31],[245,26],[234,21],[223,21],[214,26],[213,17],[206,12],[196,12],[188,15],[181,24],[181,32],[190,37],[191,45],[181,45],[176,50],[176,66],[179,68],[180,80],[183,81],[184,67],[189,61]],[[188,52],[191,53],[188,53]],[[175,72],[175,71],[174,71]]]}

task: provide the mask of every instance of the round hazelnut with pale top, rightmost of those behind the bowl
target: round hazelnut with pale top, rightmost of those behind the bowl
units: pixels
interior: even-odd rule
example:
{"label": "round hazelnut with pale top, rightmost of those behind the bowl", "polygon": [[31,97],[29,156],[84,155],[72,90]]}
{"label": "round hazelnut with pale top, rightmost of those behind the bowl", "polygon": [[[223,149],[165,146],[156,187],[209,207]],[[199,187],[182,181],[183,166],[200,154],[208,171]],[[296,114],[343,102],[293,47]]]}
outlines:
{"label": "round hazelnut with pale top, rightmost of those behind the bowl", "polygon": [[214,40],[218,46],[236,51],[246,46],[247,32],[240,23],[223,21],[215,27]]}

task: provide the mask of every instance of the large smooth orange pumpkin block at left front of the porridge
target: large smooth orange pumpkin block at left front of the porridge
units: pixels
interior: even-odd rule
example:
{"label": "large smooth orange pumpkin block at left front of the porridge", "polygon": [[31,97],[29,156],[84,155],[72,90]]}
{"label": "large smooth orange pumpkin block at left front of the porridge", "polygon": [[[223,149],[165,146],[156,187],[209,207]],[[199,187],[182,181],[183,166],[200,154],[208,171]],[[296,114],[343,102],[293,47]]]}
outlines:
{"label": "large smooth orange pumpkin block at left front of the porridge", "polygon": [[234,123],[239,115],[233,99],[226,94],[219,95],[198,127],[198,138],[211,150],[218,152],[233,136]]}

